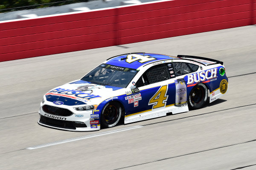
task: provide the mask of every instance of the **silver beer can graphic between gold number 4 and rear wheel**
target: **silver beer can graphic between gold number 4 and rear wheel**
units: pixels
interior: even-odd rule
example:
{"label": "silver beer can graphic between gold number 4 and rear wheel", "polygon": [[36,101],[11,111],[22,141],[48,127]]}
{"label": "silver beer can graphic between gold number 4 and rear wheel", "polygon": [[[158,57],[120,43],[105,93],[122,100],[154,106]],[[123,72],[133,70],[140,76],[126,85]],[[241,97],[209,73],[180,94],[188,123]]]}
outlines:
{"label": "silver beer can graphic between gold number 4 and rear wheel", "polygon": [[175,105],[180,106],[187,103],[186,83],[183,78],[175,80],[176,97]]}

